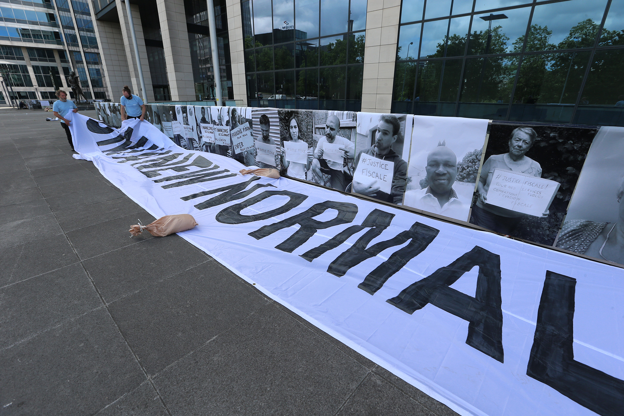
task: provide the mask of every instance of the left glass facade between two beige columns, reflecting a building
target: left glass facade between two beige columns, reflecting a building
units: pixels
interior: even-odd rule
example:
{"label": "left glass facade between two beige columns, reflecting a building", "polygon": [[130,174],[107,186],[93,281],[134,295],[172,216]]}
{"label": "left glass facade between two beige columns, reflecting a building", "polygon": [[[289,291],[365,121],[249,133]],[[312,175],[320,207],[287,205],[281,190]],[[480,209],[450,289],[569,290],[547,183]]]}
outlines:
{"label": "left glass facade between two beige columns, reflecting a building", "polygon": [[249,105],[359,111],[366,4],[241,2]]}

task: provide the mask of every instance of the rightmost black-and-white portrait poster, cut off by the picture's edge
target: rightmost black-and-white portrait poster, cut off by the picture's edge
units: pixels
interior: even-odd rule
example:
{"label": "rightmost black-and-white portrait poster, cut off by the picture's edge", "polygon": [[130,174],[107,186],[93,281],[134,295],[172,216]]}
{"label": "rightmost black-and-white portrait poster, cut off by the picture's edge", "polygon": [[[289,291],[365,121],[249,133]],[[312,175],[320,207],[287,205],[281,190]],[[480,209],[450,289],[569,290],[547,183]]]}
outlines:
{"label": "rightmost black-and-white portrait poster, cut off by the picture's edge", "polygon": [[624,264],[624,128],[600,127],[556,246]]}

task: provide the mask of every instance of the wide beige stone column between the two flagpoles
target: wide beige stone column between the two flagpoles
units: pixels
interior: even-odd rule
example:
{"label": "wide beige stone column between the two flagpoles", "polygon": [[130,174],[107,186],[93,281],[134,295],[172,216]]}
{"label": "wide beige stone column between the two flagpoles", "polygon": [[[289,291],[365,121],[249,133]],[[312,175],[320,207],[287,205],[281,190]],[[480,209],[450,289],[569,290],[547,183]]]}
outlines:
{"label": "wide beige stone column between the two flagpoles", "polygon": [[[193,81],[193,66],[188,46],[184,0],[156,0],[156,6],[158,17],[160,17],[160,32],[165,48],[171,99],[195,101],[195,81]],[[145,64],[145,67],[149,66]]]}

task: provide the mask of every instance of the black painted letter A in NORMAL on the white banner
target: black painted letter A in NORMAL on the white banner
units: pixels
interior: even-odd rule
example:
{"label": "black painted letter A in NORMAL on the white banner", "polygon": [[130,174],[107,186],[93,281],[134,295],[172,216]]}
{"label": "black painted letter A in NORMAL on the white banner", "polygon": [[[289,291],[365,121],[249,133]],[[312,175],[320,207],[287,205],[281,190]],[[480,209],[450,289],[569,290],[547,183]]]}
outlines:
{"label": "black painted letter A in NORMAL on the white banner", "polygon": [[[475,265],[479,266],[475,297],[449,287]],[[431,303],[467,320],[466,344],[503,362],[503,312],[500,309],[500,256],[475,245],[446,267],[403,289],[389,304],[413,314]]]}

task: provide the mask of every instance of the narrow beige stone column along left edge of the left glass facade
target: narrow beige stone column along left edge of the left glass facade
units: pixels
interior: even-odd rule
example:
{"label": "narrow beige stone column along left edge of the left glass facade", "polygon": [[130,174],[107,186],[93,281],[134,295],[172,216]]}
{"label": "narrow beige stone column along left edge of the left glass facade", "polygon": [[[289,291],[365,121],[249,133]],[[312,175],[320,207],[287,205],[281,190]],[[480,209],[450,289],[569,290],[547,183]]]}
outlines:
{"label": "narrow beige stone column along left edge of the left glass facade", "polygon": [[247,82],[243,42],[243,17],[240,0],[225,0],[230,37],[230,62],[232,62],[232,87],[236,106],[247,106]]}

